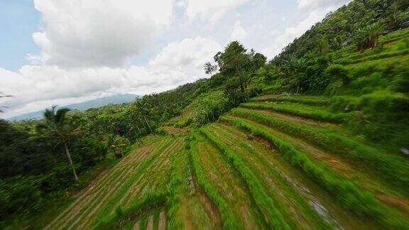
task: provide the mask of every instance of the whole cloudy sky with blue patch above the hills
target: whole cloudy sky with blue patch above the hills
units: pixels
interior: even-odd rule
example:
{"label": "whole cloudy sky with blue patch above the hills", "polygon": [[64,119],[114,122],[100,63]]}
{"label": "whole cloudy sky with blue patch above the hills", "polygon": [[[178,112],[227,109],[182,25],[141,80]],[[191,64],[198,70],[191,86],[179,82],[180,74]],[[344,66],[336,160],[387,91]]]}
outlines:
{"label": "whole cloudy sky with blue patch above the hills", "polygon": [[271,59],[349,1],[0,0],[0,117],[210,77],[232,40]]}

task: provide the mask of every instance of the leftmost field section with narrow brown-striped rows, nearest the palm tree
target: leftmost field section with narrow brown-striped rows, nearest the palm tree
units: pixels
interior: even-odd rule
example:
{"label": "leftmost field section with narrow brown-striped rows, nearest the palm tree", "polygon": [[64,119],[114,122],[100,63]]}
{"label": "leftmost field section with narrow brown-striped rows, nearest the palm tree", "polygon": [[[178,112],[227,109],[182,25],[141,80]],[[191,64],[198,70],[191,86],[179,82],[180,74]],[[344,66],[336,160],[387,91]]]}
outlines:
{"label": "leftmost field section with narrow brown-striped rows, nearest the palm tree", "polygon": [[[132,207],[146,192],[165,190],[169,178],[163,175],[168,175],[171,157],[180,151],[181,142],[181,138],[156,138],[126,155],[112,170],[80,192],[75,202],[45,229],[89,229],[115,216],[113,212]],[[152,206],[156,205],[160,207]],[[155,220],[160,217],[162,222],[165,218],[163,212],[153,216]]]}

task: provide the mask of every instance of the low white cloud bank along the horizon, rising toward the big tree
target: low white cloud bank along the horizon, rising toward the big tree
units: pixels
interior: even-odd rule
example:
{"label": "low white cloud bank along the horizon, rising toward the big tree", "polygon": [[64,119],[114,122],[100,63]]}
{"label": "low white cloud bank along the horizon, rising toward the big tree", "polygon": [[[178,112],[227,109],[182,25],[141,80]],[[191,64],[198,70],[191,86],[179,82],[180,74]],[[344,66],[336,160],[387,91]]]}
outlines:
{"label": "low white cloud bank along the horizon, rising toward the big tree", "polygon": [[27,65],[18,72],[0,68],[0,92],[12,94],[1,104],[4,117],[69,104],[106,94],[148,94],[173,89],[204,76],[203,64],[222,46],[209,38],[185,38],[169,43],[146,67],[87,67],[65,69],[55,65]]}

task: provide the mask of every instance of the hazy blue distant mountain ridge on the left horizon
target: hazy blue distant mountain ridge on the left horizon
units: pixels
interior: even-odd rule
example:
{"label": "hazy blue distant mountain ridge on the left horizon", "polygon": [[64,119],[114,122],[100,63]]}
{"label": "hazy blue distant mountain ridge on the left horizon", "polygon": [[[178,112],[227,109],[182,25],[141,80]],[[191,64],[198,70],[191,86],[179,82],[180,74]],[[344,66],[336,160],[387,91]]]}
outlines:
{"label": "hazy blue distant mountain ridge on the left horizon", "polygon": [[[129,103],[133,102],[136,98],[140,96],[136,94],[115,94],[109,97],[102,97],[97,99],[92,99],[86,102],[81,102],[77,104],[68,104],[65,106],[58,106],[58,107],[66,107],[69,109],[78,109],[81,111],[85,111],[90,108],[98,108],[101,106],[105,106],[107,104],[122,104],[122,103]],[[34,111],[28,114],[22,114],[19,116],[13,116],[7,120],[9,121],[21,121],[25,119],[39,119],[43,116],[44,110]]]}

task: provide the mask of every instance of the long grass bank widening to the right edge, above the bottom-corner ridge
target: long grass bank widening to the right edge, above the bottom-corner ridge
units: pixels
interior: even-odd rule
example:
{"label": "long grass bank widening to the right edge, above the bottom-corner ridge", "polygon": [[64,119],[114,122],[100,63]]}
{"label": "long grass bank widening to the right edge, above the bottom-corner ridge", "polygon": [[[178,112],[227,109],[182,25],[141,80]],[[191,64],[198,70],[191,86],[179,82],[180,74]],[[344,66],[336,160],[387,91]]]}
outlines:
{"label": "long grass bank widening to the right edge, above the bottom-corner ridge", "polygon": [[256,111],[233,109],[231,113],[277,128],[289,135],[305,139],[318,148],[349,158],[356,167],[370,170],[373,174],[382,177],[384,183],[392,185],[408,196],[408,190],[405,188],[409,186],[409,165],[405,163],[404,158],[381,153],[376,148],[371,148],[333,131],[283,121]]}

